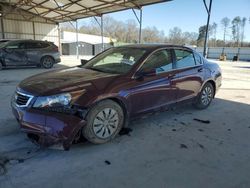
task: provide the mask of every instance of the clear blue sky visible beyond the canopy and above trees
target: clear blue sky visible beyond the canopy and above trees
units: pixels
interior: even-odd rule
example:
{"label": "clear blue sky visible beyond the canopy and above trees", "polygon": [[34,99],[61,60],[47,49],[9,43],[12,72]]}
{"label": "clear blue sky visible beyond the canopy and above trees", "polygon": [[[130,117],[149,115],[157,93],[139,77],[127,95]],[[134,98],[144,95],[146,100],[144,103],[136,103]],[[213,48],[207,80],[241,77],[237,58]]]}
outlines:
{"label": "clear blue sky visible beyond the canopy and above trees", "polygon": [[[209,3],[209,0],[206,1]],[[108,15],[120,21],[136,20],[132,10]],[[236,16],[247,18],[244,40],[250,42],[250,0],[213,0],[210,24],[213,22],[218,24],[217,38],[223,38],[221,19],[228,17],[232,20]],[[158,30],[163,30],[166,35],[169,29],[174,27],[181,28],[183,32],[198,33],[199,27],[205,25],[206,22],[207,12],[203,0],[173,0],[143,7],[142,27],[155,26]],[[230,35],[231,32],[229,32],[227,40],[231,38]]]}

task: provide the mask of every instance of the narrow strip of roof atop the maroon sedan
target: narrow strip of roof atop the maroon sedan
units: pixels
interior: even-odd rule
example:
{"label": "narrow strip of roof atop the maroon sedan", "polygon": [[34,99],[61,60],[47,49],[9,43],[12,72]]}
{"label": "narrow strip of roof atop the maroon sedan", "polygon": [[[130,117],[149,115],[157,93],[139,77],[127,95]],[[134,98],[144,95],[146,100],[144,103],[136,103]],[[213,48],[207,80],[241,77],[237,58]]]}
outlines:
{"label": "narrow strip of roof atop the maroon sedan", "polygon": [[182,48],[193,51],[192,48],[182,46],[182,45],[174,45],[174,44],[129,44],[124,46],[119,46],[118,48],[140,48],[146,50],[156,50],[160,48]]}

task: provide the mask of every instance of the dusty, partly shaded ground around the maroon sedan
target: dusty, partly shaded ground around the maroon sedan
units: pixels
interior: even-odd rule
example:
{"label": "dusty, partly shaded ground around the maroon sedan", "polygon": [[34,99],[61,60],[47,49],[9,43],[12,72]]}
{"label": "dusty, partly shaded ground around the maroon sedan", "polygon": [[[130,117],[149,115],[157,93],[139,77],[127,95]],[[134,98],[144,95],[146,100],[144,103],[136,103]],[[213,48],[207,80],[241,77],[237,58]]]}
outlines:
{"label": "dusty, partly shaded ground around the maroon sedan", "polygon": [[[18,82],[46,70],[1,71],[0,188],[250,187],[250,63],[218,63],[222,88],[208,109],[148,115],[130,122],[130,135],[70,151],[35,146],[11,113]],[[55,68],[74,64],[63,58]]]}

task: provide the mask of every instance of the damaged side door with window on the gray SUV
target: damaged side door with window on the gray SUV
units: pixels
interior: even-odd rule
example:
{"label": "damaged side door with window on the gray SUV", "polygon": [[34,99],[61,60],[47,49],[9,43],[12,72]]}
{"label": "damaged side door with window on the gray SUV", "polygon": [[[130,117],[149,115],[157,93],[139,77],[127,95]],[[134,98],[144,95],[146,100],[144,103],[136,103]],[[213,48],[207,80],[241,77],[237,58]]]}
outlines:
{"label": "damaged side door with window on the gray SUV", "polygon": [[23,41],[11,41],[4,48],[4,62],[7,66],[26,65],[27,57]]}

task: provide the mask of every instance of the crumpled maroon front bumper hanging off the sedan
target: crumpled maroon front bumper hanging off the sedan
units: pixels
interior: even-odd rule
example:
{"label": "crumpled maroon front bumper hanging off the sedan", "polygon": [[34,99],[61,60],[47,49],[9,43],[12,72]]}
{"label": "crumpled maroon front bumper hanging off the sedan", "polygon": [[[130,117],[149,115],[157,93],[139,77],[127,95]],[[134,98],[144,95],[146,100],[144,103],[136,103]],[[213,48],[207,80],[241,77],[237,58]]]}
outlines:
{"label": "crumpled maroon front bumper hanging off the sedan", "polygon": [[21,130],[37,138],[42,146],[62,144],[68,150],[75,136],[86,121],[73,114],[42,111],[17,107],[12,103],[12,112]]}

